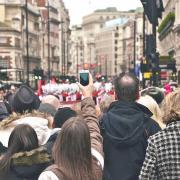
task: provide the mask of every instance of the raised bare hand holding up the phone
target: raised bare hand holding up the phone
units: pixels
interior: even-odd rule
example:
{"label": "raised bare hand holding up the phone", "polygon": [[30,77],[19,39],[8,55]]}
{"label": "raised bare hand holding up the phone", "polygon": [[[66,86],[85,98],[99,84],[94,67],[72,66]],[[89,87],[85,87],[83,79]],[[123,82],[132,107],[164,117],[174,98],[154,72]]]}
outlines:
{"label": "raised bare hand holding up the phone", "polygon": [[89,73],[89,84],[87,86],[81,85],[79,82],[77,83],[79,86],[79,89],[82,92],[82,95],[86,97],[92,97],[92,93],[94,90],[94,84],[93,84],[93,78],[92,75]]}

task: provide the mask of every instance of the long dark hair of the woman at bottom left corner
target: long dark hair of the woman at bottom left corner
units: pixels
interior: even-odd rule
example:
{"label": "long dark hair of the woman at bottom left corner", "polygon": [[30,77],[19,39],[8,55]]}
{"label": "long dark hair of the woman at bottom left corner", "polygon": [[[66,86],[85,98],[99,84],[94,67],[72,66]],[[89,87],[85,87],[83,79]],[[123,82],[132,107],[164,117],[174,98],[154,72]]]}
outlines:
{"label": "long dark hair of the woman at bottom left corner", "polygon": [[26,124],[18,125],[11,132],[8,141],[8,150],[0,160],[0,170],[8,171],[13,154],[30,151],[38,147],[38,138],[35,130]]}

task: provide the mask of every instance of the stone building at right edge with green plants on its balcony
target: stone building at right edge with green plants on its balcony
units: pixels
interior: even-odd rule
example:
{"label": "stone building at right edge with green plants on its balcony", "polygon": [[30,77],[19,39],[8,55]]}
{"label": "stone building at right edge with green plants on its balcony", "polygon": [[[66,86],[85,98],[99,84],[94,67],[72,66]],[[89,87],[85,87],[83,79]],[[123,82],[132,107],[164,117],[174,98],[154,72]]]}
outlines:
{"label": "stone building at right edge with green plants on its balcony", "polygon": [[[164,0],[164,12],[158,27],[157,49],[161,56],[176,60],[180,82],[180,1]],[[169,70],[171,79],[172,70]]]}

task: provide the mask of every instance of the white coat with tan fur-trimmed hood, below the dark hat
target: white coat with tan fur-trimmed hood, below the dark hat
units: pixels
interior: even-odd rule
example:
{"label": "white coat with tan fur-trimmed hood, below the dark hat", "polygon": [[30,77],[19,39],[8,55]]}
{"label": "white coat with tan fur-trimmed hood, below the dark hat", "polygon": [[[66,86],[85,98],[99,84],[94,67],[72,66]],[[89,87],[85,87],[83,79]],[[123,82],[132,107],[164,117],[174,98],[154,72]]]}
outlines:
{"label": "white coat with tan fur-trimmed hood, below the dark hat", "polygon": [[46,114],[38,111],[23,115],[14,113],[0,122],[0,142],[3,146],[8,147],[9,136],[14,127],[19,124],[28,124],[34,128],[38,136],[39,145],[45,144],[51,135],[49,119]]}

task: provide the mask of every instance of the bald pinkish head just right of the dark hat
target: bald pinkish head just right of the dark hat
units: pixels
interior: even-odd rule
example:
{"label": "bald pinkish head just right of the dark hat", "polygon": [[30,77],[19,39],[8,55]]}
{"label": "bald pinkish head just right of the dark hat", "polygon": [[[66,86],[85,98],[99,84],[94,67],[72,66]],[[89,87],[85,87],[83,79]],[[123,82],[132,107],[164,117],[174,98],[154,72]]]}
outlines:
{"label": "bald pinkish head just right of the dark hat", "polygon": [[58,109],[60,107],[60,101],[57,97],[53,96],[53,95],[47,95],[45,97],[42,98],[41,103],[47,103],[52,105],[55,109]]}

